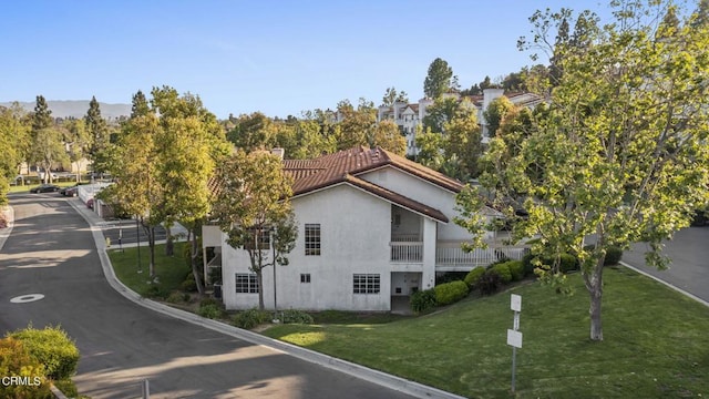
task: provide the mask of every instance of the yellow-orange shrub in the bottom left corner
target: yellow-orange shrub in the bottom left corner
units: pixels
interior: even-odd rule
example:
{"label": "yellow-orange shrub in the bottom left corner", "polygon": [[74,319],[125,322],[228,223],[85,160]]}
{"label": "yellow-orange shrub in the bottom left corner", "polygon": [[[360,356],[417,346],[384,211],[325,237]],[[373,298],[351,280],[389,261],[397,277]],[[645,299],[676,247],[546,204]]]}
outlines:
{"label": "yellow-orange shrub in the bottom left corner", "polygon": [[30,356],[20,340],[11,337],[0,339],[0,376],[24,377],[30,378],[31,382],[40,382],[39,386],[1,383],[2,398],[53,398],[47,383],[44,367]]}

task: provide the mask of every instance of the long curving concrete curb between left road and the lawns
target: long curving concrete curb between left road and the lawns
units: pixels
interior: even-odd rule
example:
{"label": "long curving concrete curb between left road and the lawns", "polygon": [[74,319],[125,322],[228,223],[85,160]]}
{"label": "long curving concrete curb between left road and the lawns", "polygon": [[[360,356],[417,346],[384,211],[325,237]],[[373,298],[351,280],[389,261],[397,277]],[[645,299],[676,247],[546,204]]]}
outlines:
{"label": "long curving concrete curb between left road and the lawns", "polygon": [[113,289],[115,289],[125,298],[132,300],[135,304],[138,304],[145,308],[152,309],[160,314],[174,317],[196,326],[208,328],[214,331],[222,332],[250,344],[267,347],[273,350],[277,350],[277,351],[294,356],[301,360],[306,360],[308,362],[320,365],[329,369],[345,372],[352,377],[360,378],[362,380],[377,383],[379,386],[390,388],[407,395],[411,395],[417,398],[442,398],[442,399],[463,399],[464,398],[451,392],[443,391],[438,388],[429,387],[419,382],[407,380],[401,377],[388,375],[386,372],[378,371],[364,366],[356,365],[353,362],[341,360],[328,355],[305,349],[291,344],[282,342],[273,338],[261,336],[256,332],[251,332],[245,329],[226,325],[220,321],[203,318],[193,313],[185,311],[182,309],[176,309],[167,305],[163,305],[154,300],[144,298],[140,296],[137,293],[126,287],[125,285],[123,285],[123,283],[121,283],[116,278],[115,273],[113,272],[113,267],[111,266],[109,254],[106,253],[106,245],[103,239],[103,233],[101,231],[101,227],[92,223],[91,218],[84,214],[84,212],[86,211],[84,211],[83,208],[76,207],[72,202],[70,203],[71,203],[71,206],[74,207],[74,209],[76,209],[76,212],[79,212],[79,214],[91,226],[91,232],[93,234],[93,237],[96,244],[96,249],[99,252],[99,257],[101,258],[101,267],[103,269],[103,274],[109,285],[111,285]]}

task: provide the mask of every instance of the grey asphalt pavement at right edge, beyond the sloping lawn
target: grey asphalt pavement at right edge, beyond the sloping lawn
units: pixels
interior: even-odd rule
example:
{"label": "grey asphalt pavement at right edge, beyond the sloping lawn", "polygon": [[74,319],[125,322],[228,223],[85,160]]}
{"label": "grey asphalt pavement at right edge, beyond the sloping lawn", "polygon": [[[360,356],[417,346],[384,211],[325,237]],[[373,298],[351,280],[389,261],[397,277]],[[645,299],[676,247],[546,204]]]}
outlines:
{"label": "grey asphalt pavement at right edge, beyond the sloping lawn", "polygon": [[684,228],[665,243],[664,253],[672,259],[667,270],[646,266],[646,244],[636,244],[623,255],[623,260],[709,303],[709,227]]}

